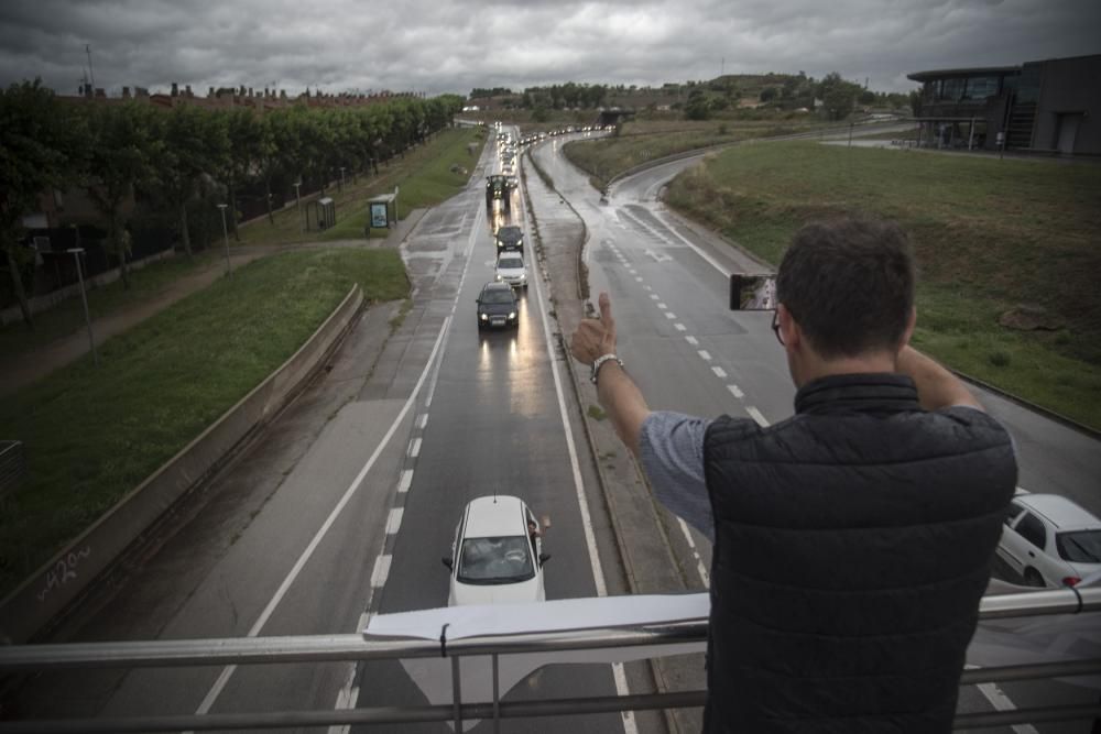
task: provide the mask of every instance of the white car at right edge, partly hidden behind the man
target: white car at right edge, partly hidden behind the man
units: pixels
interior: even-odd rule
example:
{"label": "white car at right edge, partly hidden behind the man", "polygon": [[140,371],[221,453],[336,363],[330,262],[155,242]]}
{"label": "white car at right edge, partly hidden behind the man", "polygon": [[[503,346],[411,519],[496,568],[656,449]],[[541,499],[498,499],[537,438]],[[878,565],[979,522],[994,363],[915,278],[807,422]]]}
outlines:
{"label": "white car at right edge, partly hidden behind the man", "polygon": [[1057,494],[1020,493],[998,555],[1029,587],[1073,587],[1101,571],[1101,521]]}

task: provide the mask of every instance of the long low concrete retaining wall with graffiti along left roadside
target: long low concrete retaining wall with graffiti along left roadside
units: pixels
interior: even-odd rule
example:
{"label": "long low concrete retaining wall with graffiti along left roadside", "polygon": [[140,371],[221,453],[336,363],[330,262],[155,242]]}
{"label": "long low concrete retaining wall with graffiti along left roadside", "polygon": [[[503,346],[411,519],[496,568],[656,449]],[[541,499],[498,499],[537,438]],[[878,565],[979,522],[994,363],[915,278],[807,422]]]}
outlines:
{"label": "long low concrete retaining wall with graffiti along left roadside", "polygon": [[336,347],[362,303],[356,285],[282,366],[0,602],[0,643],[28,642],[251,431],[279,413]]}

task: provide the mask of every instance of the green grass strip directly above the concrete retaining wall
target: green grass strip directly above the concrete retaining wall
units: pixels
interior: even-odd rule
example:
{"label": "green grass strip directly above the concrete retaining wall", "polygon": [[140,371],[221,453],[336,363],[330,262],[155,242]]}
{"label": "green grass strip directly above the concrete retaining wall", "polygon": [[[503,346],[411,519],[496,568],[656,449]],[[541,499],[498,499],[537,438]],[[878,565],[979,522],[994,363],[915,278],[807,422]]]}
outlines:
{"label": "green grass strip directly above the concrete retaining wall", "polygon": [[0,435],[29,474],[0,524],[10,591],[290,358],[359,283],[408,293],[396,250],[303,250],[258,260],[0,402]]}

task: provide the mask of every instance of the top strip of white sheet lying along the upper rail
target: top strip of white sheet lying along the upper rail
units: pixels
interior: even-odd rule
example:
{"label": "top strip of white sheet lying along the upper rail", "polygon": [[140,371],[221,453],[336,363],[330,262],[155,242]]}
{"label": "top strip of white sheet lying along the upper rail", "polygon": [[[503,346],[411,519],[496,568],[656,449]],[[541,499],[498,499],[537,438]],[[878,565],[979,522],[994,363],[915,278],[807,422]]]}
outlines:
{"label": "top strip of white sheet lying along the upper rail", "polygon": [[711,602],[706,592],[445,606],[377,614],[368,622],[363,636],[367,639],[439,639],[445,624],[448,625],[448,639],[525,632],[623,629],[706,620],[710,610]]}

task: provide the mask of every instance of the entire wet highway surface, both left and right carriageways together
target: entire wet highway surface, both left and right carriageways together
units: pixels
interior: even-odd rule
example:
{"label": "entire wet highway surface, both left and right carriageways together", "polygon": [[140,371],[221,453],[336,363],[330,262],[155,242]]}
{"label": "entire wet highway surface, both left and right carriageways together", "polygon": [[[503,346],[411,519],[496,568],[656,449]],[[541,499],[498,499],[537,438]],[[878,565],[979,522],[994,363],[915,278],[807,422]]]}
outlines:
{"label": "entire wet highway surface, both left and right carriageways together", "polygon": [[[592,293],[611,294],[621,357],[651,406],[760,423],[791,415],[794,387],[770,316],[727,310],[726,273],[760,265],[657,200],[664,183],[694,161],[626,178],[601,205],[560,156],[558,141],[535,155],[588,227]],[[396,305],[369,310],[330,369],[151,534],[55,631],[55,642],[349,633],[362,628],[369,613],[444,605],[440,558],[449,554],[459,513],[470,499],[494,491],[517,494],[553,519],[548,599],[626,592],[580,409],[564,355],[553,346],[544,284],[536,278],[522,299],[515,331],[479,335],[476,328],[475,297],[492,278],[493,226],[528,226],[519,195],[508,217],[487,216],[483,176],[498,165],[488,145],[469,187],[429,211],[402,247],[414,296],[401,325],[391,325]],[[560,205],[543,197],[536,216],[541,206]],[[549,247],[555,237],[547,227]],[[981,399],[1014,435],[1023,486],[1066,494],[1101,513],[1097,441],[996,396],[981,393]],[[668,537],[675,563],[687,569],[686,585],[705,588],[707,543],[687,529]],[[1015,645],[1004,628],[992,628],[983,644],[984,653],[996,654]],[[651,686],[645,666],[548,668],[506,700]],[[1003,688],[1006,701],[1029,705],[1080,698],[1082,690],[1070,683]],[[989,710],[991,701],[1004,705],[989,690],[966,691],[961,709]],[[4,712],[103,717],[423,702],[396,664],[340,662],[51,673],[26,681]],[[655,714],[626,722],[617,714],[568,716],[541,720],[537,731],[633,734],[662,731],[664,722]],[[489,730],[482,723],[473,731]],[[506,722],[502,731],[533,727]]]}

